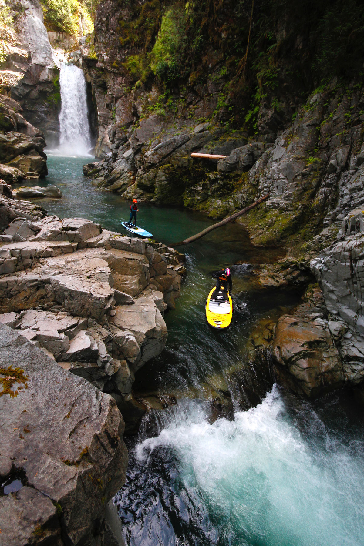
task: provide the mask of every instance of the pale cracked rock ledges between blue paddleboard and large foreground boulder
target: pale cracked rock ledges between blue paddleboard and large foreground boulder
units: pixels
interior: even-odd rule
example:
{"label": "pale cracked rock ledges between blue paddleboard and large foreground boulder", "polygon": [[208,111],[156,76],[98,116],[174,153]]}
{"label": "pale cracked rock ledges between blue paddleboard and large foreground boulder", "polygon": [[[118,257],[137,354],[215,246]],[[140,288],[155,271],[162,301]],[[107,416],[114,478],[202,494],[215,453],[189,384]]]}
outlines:
{"label": "pale cracked rock ledges between blue paddleboard and large foreground boulder", "polygon": [[[3,203],[5,224],[13,201]],[[112,394],[132,430],[144,411],[131,394],[133,374],[165,347],[163,313],[180,295],[183,255],[83,218],[40,213],[15,218],[2,238],[0,323]],[[133,424],[126,399],[138,406]]]}

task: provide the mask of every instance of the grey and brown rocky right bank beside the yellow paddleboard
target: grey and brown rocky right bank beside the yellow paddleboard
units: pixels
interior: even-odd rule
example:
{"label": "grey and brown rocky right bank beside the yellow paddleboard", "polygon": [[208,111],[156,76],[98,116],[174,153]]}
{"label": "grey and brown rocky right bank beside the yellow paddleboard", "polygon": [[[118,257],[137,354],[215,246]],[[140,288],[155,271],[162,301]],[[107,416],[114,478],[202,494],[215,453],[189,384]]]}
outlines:
{"label": "grey and brown rocky right bank beside the yellow paddleboard", "polygon": [[286,257],[252,270],[260,290],[308,286],[302,304],[278,321],[263,320],[251,334],[255,351],[272,352],[277,382],[299,396],[315,399],[349,388],[361,399],[362,217],[361,209],[350,211],[319,252],[316,248],[298,259]]}

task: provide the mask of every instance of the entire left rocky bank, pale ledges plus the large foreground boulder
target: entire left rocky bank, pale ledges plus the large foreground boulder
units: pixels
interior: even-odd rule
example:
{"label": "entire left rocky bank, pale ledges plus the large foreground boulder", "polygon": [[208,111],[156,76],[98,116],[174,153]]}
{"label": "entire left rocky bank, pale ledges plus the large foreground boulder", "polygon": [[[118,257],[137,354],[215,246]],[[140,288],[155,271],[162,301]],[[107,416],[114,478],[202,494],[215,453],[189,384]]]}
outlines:
{"label": "entire left rocky bank, pale ledges plus the large foreground boulder", "polygon": [[5,195],[0,217],[1,540],[122,544],[134,373],[165,347],[184,257]]}

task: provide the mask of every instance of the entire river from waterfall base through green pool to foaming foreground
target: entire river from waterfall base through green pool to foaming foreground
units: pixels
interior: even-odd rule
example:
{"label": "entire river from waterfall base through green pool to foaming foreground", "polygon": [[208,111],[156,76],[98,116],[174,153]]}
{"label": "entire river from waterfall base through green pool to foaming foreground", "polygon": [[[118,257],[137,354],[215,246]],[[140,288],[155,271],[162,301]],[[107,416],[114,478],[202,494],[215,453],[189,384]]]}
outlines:
{"label": "entire river from waterfall base through green pool to foaming foreground", "polygon": [[[41,185],[56,183],[63,198],[40,204],[49,214],[86,217],[122,232],[129,204],[91,185],[81,171],[89,161],[49,156],[49,176]],[[144,203],[139,209],[138,223],[167,245],[211,223],[187,210]],[[242,411],[239,383],[240,395],[245,381],[269,384],[249,357],[249,332],[259,319],[277,316],[300,298],[254,289],[249,264],[274,260],[277,251],[251,246],[239,224],[182,249],[187,274],[176,310],[165,316],[166,349],[134,383],[144,400],[165,395],[176,403],[153,409],[138,436],[126,438],[127,481],[115,496],[126,544],[363,545],[360,407],[345,393],[309,403],[270,385],[256,407]],[[204,321],[214,282],[210,271],[237,261],[234,323],[228,333],[214,333]],[[213,417],[210,400],[216,393],[231,396],[228,418]]]}

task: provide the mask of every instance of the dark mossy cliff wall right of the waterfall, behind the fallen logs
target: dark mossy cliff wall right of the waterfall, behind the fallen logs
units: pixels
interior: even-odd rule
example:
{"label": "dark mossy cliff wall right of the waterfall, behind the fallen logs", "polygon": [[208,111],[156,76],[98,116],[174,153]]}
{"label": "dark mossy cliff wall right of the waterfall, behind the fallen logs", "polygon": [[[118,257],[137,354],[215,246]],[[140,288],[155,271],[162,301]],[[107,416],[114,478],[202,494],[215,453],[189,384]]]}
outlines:
{"label": "dark mossy cliff wall right of the waterfall, behind the fallen logs", "polygon": [[[363,17],[354,1],[102,2],[81,50],[98,106],[96,155],[105,159],[85,172],[125,197],[222,217],[261,194],[285,132],[279,146],[296,163],[292,176],[279,176],[292,203],[281,210],[270,199],[245,222],[257,244],[282,244],[297,225],[306,240],[327,212],[321,198],[312,209],[327,142],[340,135],[330,153],[350,146],[347,133],[361,124]],[[192,151],[229,158],[196,162]]]}

